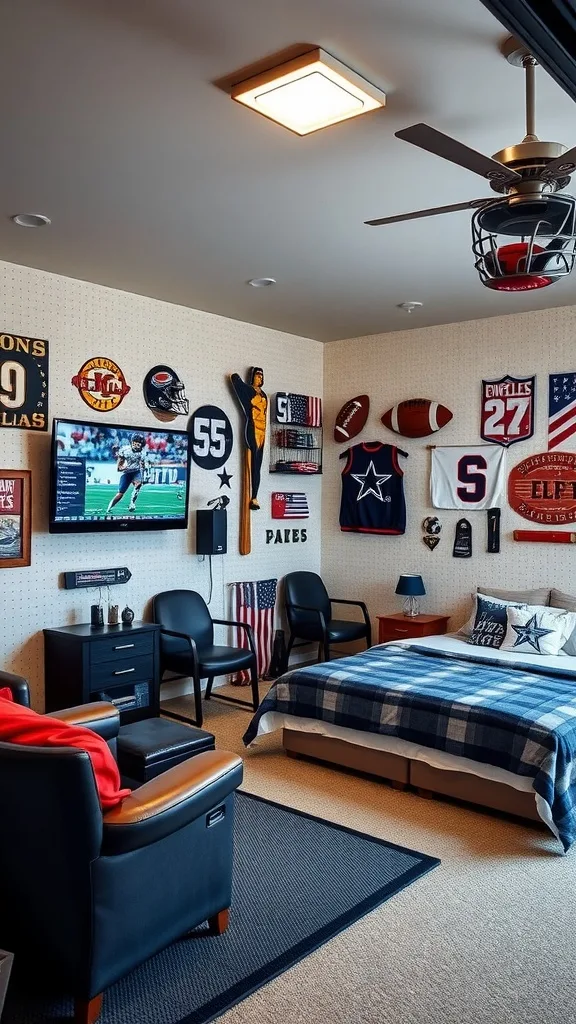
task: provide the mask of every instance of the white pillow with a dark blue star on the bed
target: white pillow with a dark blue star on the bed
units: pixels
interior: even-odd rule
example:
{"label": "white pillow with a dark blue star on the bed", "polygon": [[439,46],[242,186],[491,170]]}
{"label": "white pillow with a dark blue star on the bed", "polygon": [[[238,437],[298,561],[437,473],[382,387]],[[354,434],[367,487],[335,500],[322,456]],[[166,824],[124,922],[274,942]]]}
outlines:
{"label": "white pillow with a dark blue star on the bed", "polygon": [[556,608],[506,608],[507,629],[500,650],[516,654],[560,654],[576,629],[576,612]]}

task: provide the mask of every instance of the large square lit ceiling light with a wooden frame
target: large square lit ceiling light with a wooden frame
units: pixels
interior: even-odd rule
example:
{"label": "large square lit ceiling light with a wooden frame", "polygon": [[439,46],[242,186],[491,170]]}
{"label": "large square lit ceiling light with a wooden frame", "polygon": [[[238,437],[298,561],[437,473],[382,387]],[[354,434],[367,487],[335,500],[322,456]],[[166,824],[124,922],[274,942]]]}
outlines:
{"label": "large square lit ceiling light with a wooden frame", "polygon": [[297,135],[375,111],[386,101],[385,93],[319,47],[240,82],[232,98]]}

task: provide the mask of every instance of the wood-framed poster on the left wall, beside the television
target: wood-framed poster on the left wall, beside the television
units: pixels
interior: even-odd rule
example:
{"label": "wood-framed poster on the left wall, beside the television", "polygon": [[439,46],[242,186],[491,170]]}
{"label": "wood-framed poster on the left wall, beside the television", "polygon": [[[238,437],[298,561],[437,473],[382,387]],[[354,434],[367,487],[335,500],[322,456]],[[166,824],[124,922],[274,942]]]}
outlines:
{"label": "wood-framed poster on the left wall, beside the television", "polygon": [[0,469],[0,568],[30,565],[32,487],[28,469]]}

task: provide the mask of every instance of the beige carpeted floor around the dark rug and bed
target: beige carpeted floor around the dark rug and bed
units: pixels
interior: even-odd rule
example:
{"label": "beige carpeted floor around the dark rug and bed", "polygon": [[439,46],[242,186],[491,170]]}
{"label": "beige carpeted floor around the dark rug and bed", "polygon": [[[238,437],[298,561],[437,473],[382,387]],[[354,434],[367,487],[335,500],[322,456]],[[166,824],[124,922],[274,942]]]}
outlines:
{"label": "beige carpeted floor around the dark rug and bed", "polygon": [[[265,689],[265,688],[264,688]],[[243,788],[442,864],[220,1018],[221,1024],[567,1024],[576,1007],[576,850],[481,811],[244,751],[248,714],[205,703]]]}

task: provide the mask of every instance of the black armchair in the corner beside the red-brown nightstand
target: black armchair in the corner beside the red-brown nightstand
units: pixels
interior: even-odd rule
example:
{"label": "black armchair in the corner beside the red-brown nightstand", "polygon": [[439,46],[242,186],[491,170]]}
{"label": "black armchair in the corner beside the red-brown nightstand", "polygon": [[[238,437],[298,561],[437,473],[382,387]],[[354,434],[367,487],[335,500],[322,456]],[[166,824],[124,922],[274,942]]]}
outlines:
{"label": "black armchair in the corner beside the red-brown nightstand", "polygon": [[[364,601],[329,597],[322,579],[316,572],[289,572],[284,579],[284,600],[290,627],[287,660],[296,639],[304,643],[318,643],[318,659],[323,654],[325,662],[330,660],[332,643],[349,643],[365,638],[366,646],[372,646],[372,630]],[[356,605],[362,609],[364,622],[332,618],[333,604]]]}

